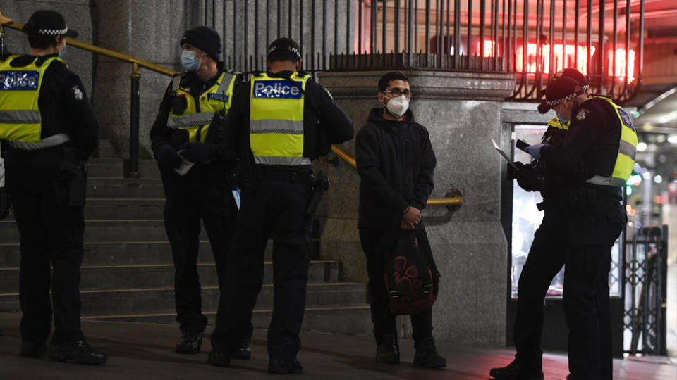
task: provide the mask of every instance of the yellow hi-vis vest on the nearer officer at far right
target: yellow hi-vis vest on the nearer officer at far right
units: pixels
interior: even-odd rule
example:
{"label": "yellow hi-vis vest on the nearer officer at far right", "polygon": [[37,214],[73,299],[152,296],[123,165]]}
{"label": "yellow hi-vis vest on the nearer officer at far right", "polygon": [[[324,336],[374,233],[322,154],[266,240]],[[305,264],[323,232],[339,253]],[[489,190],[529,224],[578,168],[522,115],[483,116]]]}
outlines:
{"label": "yellow hi-vis vest on the nearer officer at far right", "polygon": [[633,172],[633,165],[635,165],[635,153],[637,153],[637,132],[633,125],[633,120],[630,115],[626,113],[620,106],[616,105],[611,99],[604,96],[590,96],[588,99],[603,99],[611,104],[616,111],[618,120],[621,120],[621,141],[618,144],[618,156],[616,157],[616,164],[614,165],[614,172],[609,177],[602,177],[595,175],[587,179],[587,183],[597,185],[608,185],[621,187],[626,184],[630,174]]}

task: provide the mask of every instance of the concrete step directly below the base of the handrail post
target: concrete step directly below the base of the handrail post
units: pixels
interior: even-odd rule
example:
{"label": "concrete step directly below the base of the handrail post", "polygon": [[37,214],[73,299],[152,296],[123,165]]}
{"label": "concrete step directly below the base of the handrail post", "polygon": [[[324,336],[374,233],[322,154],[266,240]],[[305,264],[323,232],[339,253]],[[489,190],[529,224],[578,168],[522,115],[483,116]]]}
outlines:
{"label": "concrete step directly below the base of the handrail post", "polygon": [[164,198],[159,178],[87,178],[87,198]]}

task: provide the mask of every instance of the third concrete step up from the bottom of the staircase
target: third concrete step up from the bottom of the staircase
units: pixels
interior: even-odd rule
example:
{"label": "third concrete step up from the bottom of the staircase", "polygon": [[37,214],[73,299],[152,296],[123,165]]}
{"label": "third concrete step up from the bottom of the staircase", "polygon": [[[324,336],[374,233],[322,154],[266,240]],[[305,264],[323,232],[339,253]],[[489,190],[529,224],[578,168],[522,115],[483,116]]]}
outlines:
{"label": "third concrete step up from the bottom of the staircase", "polygon": [[[308,270],[310,282],[338,281],[339,263],[336,261],[312,260]],[[218,286],[216,266],[213,262],[197,265],[200,284]],[[174,265],[102,265],[80,268],[80,289],[83,291],[107,289],[152,289],[172,287]],[[272,262],[264,264],[264,284],[273,281]],[[0,293],[12,293],[18,289],[19,268],[0,268]]]}

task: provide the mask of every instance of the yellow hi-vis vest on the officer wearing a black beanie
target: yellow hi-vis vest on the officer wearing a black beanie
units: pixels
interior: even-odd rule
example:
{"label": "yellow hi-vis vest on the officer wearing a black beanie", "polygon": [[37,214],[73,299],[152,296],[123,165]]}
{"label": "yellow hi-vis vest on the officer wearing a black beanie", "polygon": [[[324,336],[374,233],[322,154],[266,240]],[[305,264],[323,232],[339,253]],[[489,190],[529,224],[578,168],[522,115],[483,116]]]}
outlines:
{"label": "yellow hi-vis vest on the officer wearing a black beanie", "polygon": [[212,87],[200,95],[199,102],[195,102],[188,91],[181,88],[181,75],[172,80],[172,88],[176,96],[186,99],[187,107],[183,113],[176,114],[169,111],[167,127],[184,129],[188,132],[188,142],[205,142],[209,125],[212,125],[214,113],[224,110],[226,115],[233,103],[233,87],[236,75],[224,72]]}

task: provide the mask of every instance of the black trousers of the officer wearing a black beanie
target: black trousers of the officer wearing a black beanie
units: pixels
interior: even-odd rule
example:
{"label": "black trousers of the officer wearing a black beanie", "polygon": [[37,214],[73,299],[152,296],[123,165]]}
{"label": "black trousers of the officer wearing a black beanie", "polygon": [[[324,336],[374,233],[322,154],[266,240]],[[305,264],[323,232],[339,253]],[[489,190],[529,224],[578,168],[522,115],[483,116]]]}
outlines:
{"label": "black trousers of the officer wearing a black beanie", "polygon": [[166,203],[164,227],[174,261],[176,322],[185,333],[201,333],[207,327],[202,314],[197,254],[200,248],[200,220],[212,246],[219,288],[226,277],[229,243],[238,214],[231,187],[206,184],[164,175]]}

